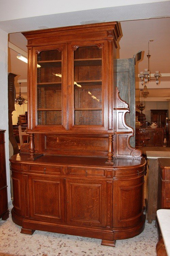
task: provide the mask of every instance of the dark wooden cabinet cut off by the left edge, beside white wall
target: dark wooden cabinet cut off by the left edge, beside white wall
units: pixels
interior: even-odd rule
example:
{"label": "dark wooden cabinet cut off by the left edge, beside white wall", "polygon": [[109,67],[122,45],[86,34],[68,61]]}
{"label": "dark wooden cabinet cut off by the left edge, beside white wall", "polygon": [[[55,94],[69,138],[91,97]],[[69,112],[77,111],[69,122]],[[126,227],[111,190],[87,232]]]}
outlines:
{"label": "dark wooden cabinet cut off by the left edge, beside white wall", "polygon": [[9,217],[5,165],[5,130],[0,130],[0,218]]}

